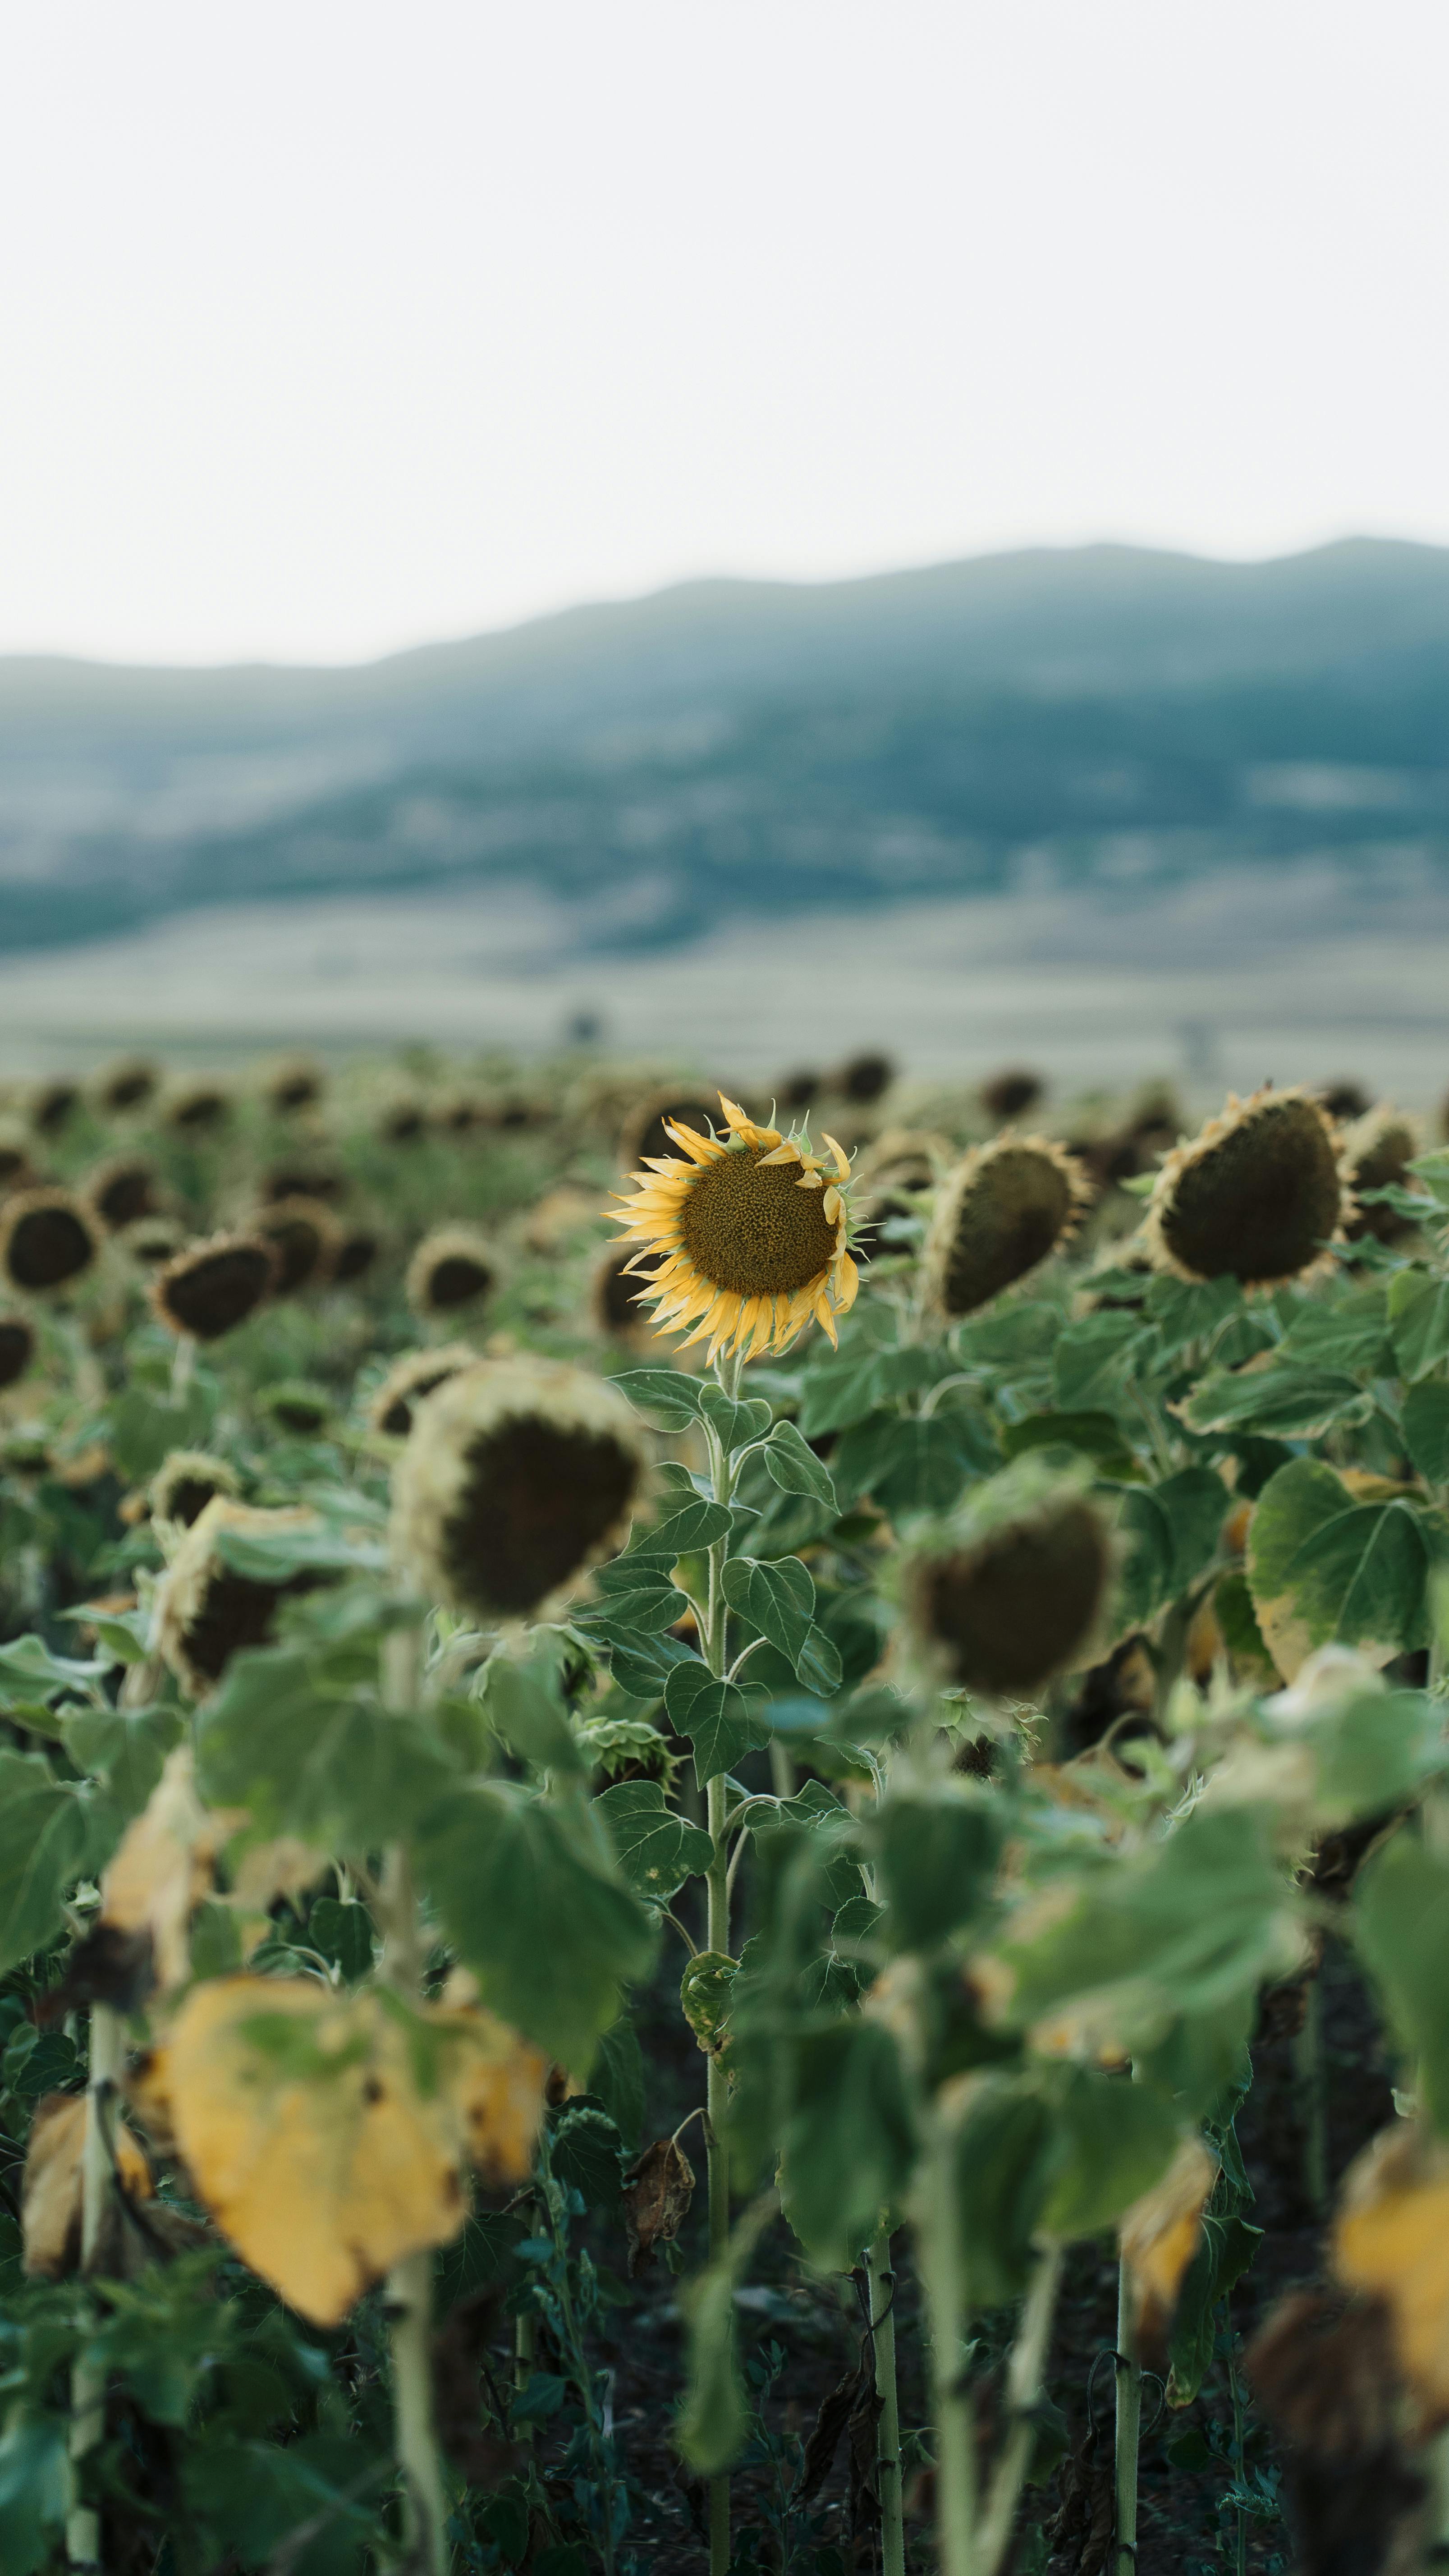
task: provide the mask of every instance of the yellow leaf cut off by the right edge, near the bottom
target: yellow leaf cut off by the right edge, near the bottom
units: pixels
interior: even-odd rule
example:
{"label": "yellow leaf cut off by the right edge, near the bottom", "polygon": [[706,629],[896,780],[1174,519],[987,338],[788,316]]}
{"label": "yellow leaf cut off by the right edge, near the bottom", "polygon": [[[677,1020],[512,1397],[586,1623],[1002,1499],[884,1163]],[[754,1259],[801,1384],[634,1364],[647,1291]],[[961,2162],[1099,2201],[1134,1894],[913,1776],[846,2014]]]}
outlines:
{"label": "yellow leaf cut off by the right edge, near the bottom", "polygon": [[1449,2148],[1395,2120],[1349,2166],[1333,2269],[1382,2298],[1418,2429],[1449,2424]]}

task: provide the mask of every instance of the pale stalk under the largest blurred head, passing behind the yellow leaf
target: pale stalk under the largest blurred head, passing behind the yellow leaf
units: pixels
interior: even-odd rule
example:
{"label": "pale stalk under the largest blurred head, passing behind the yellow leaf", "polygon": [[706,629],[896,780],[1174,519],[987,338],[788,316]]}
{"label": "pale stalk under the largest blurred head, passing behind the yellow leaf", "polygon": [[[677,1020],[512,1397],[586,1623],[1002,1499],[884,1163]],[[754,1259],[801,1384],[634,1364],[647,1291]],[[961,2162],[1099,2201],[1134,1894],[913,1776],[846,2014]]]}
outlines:
{"label": "pale stalk under the largest blurred head, passing behind the yellow leaf", "polygon": [[[417,1708],[422,1698],[422,1631],[394,1628],[383,1641],[383,1698],[389,1708]],[[383,1935],[381,1976],[407,2004],[422,1999],[422,1927],[407,1847],[394,1842],[378,1891]],[[401,2468],[401,2530],[409,2571],[448,2576],[448,2494],[438,2455],[432,2391],[432,2254],[407,2254],[386,2277],[391,2342],[394,2442]]]}

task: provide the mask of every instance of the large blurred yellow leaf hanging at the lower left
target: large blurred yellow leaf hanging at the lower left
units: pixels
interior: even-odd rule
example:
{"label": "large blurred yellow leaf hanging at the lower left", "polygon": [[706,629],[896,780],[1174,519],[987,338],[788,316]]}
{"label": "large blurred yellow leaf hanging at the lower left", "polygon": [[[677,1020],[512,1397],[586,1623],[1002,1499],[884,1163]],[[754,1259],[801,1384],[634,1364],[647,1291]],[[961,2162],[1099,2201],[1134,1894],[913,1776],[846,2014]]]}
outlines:
{"label": "large blurred yellow leaf hanging at the lower left", "polygon": [[466,2161],[528,2177],[546,2058],[486,2012],[226,1976],[188,1994],[162,2074],[198,2200],[291,2308],[335,2326],[458,2233]]}

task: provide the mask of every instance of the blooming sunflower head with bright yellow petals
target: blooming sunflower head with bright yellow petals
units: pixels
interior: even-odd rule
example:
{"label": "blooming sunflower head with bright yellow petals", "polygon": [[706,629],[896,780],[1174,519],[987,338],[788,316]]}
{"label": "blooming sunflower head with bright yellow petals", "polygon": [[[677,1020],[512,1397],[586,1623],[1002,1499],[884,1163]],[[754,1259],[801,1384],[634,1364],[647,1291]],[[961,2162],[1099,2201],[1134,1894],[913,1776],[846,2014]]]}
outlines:
{"label": "blooming sunflower head with bright yellow petals", "polygon": [[[654,1327],[692,1324],[687,1342],[721,1350],[788,1350],[816,1319],[854,1306],[860,1273],[847,1249],[849,1162],[826,1136],[834,1170],[808,1136],[757,1126],[721,1092],[728,1133],[708,1136],[669,1121],[679,1157],[646,1154],[638,1195],[620,1200],[623,1226],[643,1249],[631,1270],[654,1303]],[[656,1270],[646,1262],[656,1260]]]}

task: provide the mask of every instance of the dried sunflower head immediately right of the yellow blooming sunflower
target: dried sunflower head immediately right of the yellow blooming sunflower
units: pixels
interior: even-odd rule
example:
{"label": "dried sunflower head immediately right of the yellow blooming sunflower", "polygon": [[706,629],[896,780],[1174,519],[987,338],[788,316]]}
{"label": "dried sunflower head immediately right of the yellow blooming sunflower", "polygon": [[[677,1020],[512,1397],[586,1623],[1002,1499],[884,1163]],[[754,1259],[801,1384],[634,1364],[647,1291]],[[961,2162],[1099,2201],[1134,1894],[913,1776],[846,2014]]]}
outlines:
{"label": "dried sunflower head immediately right of the yellow blooming sunflower", "polygon": [[1066,1244],[1091,1203],[1081,1164],[1048,1136],[999,1136],[963,1154],[927,1239],[939,1314],[975,1314]]}

